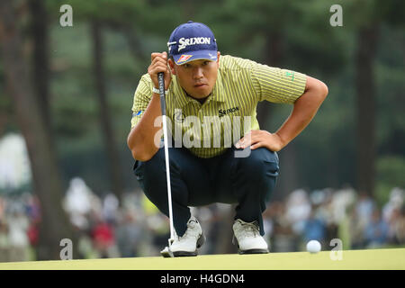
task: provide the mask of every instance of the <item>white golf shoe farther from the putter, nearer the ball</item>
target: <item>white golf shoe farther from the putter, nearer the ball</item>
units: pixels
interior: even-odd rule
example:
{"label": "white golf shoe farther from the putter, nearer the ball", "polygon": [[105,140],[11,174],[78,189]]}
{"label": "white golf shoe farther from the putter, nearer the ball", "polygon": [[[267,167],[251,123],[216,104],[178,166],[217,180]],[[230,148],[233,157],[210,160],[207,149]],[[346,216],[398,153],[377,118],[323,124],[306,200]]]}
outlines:
{"label": "white golf shoe farther from the putter, nearer the ball", "polygon": [[232,243],[238,245],[239,254],[268,253],[266,240],[260,235],[257,221],[247,223],[235,220]]}

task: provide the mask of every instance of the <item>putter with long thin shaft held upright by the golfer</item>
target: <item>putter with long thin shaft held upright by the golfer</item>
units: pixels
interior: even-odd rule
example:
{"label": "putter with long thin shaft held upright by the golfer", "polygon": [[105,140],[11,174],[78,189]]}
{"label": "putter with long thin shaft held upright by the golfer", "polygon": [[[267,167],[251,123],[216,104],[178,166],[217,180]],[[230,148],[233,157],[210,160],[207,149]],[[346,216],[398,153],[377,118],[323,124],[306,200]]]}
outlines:
{"label": "putter with long thin shaft held upright by the golfer", "polygon": [[175,257],[173,252],[170,250],[173,241],[175,240],[175,229],[173,227],[173,209],[172,209],[172,189],[170,185],[170,170],[169,170],[169,155],[168,155],[168,140],[167,140],[167,121],[166,121],[166,99],[165,99],[165,78],[163,72],[157,73],[157,78],[159,81],[159,93],[160,93],[160,108],[162,110],[162,121],[163,121],[163,139],[165,144],[165,162],[166,162],[166,182],[167,182],[167,200],[169,209],[169,220],[170,220],[170,238],[168,239],[168,246],[165,247],[160,254],[163,257]]}

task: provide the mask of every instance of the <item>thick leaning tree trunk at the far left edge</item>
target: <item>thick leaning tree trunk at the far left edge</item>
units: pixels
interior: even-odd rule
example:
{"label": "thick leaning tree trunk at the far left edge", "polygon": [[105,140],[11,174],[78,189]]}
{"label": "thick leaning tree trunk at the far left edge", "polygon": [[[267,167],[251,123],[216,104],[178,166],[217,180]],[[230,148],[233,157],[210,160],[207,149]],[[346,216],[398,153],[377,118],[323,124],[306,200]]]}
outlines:
{"label": "thick leaning tree trunk at the far left edge", "polygon": [[[76,237],[61,206],[62,188],[58,165],[53,154],[49,153],[49,134],[32,94],[27,69],[29,65],[23,58],[21,23],[18,23],[18,19],[12,1],[0,1],[0,40],[7,94],[11,95],[16,118],[27,145],[34,191],[40,199],[37,258],[59,259],[60,240],[70,238],[75,243]],[[74,246],[74,256],[75,251]]]}

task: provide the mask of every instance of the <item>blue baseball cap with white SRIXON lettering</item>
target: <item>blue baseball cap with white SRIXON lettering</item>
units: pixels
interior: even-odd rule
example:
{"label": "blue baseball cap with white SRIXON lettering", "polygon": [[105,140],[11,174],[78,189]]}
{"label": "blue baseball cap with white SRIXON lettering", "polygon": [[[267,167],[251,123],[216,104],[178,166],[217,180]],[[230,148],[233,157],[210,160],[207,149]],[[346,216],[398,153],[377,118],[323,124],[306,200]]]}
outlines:
{"label": "blue baseball cap with white SRIXON lettering", "polygon": [[198,59],[217,60],[217,41],[211,29],[202,23],[189,21],[179,25],[170,35],[167,47],[177,65]]}

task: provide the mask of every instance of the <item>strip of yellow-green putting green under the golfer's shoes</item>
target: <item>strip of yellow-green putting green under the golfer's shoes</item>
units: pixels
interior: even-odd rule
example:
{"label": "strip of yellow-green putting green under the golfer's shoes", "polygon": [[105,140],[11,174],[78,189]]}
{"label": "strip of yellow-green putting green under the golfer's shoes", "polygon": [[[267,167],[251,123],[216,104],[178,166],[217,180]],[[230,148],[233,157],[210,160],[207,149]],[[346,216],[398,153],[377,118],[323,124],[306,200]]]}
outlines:
{"label": "strip of yellow-green putting green under the golfer's shoes", "polygon": [[[341,260],[330,251],[198,257],[134,257],[0,263],[0,270],[405,270],[405,248],[344,250]],[[332,252],[333,253],[333,252]],[[337,257],[334,254],[335,258]]]}

